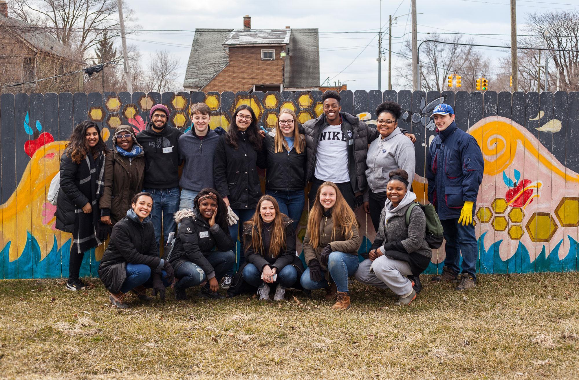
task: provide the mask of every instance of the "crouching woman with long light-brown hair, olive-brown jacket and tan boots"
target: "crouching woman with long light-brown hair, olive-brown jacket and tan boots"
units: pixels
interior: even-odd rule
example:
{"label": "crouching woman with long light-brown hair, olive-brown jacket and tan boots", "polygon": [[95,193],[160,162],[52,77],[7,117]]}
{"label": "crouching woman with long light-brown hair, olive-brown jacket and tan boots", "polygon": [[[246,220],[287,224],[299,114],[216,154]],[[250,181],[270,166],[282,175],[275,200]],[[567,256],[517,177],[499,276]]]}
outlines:
{"label": "crouching woman with long light-brown hair, olive-brown jacket and tan boots", "polygon": [[360,264],[358,221],[334,182],[321,184],[316,199],[303,239],[307,269],[301,284],[307,290],[326,288],[328,301],[338,298],[332,308],[346,310],[350,308],[348,277]]}

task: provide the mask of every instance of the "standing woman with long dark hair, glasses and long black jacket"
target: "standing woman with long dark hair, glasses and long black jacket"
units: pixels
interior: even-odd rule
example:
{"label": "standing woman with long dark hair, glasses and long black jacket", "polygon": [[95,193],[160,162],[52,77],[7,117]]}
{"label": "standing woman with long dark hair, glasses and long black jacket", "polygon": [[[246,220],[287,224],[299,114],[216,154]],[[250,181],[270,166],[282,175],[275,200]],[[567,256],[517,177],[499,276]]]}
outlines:
{"label": "standing woman with long dark hair, glasses and long black jacket", "polygon": [[[265,154],[253,109],[242,104],[235,109],[226,134],[219,137],[215,148],[215,187],[225,204],[239,221],[229,226],[234,250],[239,224],[250,220],[255,205],[261,197],[261,187],[256,166],[265,169]],[[243,242],[239,252],[239,265],[243,264]],[[222,287],[228,288],[233,276],[229,271]]]}

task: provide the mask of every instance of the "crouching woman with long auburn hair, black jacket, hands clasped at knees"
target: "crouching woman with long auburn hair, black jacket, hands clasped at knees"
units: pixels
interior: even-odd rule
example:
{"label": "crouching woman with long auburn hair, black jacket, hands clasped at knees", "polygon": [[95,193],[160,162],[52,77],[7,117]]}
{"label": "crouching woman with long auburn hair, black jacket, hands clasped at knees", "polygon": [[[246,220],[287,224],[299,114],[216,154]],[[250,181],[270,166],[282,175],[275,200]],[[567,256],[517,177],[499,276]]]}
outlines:
{"label": "crouching woman with long auburn hair, black jacket, hands clasped at knees", "polygon": [[280,213],[273,196],[259,199],[251,220],[245,222],[245,266],[243,280],[256,287],[260,301],[269,301],[270,287],[276,288],[273,297],[281,301],[285,288],[295,287],[303,273],[302,261],[295,254],[295,229],[292,220]]}

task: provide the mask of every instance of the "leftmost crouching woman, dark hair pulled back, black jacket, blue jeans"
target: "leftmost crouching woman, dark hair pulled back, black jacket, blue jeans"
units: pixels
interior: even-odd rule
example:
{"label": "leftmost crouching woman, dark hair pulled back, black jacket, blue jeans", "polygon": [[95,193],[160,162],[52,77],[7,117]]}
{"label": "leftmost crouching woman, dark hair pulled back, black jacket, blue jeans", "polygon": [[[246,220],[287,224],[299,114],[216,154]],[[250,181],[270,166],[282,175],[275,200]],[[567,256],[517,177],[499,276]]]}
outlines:
{"label": "leftmost crouching woman, dark hair pulled back, black jacket, blue jeans", "polygon": [[153,198],[140,192],[133,197],[132,209],[112,228],[111,240],[98,266],[98,276],[111,292],[113,306],[128,308],[124,295],[133,290],[140,299],[151,299],[146,288],[153,288],[161,299],[173,282],[173,268],[159,257],[155,228],[151,222]]}

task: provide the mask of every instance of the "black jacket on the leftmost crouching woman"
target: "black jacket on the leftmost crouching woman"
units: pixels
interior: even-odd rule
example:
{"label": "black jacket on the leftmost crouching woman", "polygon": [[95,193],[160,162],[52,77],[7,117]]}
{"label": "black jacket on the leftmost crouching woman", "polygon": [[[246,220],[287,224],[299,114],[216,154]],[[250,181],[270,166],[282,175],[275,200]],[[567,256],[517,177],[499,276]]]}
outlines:
{"label": "black jacket on the leftmost crouching woman", "polygon": [[161,258],[153,222],[141,223],[124,217],[113,226],[111,240],[98,266],[98,276],[111,293],[118,293],[127,279],[127,262],[145,264],[152,270],[159,268]]}

